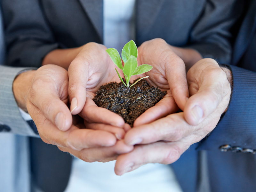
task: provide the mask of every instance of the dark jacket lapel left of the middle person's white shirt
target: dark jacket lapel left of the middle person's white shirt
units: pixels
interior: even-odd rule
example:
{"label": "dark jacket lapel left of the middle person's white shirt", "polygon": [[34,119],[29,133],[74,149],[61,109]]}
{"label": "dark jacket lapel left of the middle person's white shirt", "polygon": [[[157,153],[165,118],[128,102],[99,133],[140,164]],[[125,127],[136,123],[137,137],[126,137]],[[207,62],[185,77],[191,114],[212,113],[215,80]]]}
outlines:
{"label": "dark jacket lapel left of the middle person's white shirt", "polygon": [[103,0],[79,0],[92,25],[103,40]]}

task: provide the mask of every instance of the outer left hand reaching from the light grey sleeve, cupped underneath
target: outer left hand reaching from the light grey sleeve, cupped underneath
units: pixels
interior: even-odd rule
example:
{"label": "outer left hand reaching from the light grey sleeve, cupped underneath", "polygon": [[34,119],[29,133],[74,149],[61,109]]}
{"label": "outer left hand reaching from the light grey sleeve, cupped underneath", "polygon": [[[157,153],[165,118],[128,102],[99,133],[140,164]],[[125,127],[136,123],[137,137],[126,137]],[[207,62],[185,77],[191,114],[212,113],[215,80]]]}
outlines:
{"label": "outer left hand reaching from the light grey sleeve, cupped underneath", "polygon": [[[64,68],[46,65],[33,73],[27,109],[44,142],[57,145],[60,150],[89,162],[113,160],[118,154],[133,149],[124,141],[116,140],[115,134],[124,136],[123,129],[103,131],[85,127],[79,129],[72,125],[72,116],[67,107],[68,72]],[[18,92],[16,95],[19,95]]]}

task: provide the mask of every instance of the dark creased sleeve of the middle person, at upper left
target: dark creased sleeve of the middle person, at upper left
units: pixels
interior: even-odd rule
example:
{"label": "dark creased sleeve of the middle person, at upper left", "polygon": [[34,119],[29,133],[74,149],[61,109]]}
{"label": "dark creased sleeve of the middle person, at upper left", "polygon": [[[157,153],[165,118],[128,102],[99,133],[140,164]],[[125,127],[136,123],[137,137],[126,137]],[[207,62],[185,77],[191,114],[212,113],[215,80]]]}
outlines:
{"label": "dark creased sleeve of the middle person, at upper left", "polygon": [[44,56],[58,48],[38,0],[2,0],[6,64],[40,67]]}

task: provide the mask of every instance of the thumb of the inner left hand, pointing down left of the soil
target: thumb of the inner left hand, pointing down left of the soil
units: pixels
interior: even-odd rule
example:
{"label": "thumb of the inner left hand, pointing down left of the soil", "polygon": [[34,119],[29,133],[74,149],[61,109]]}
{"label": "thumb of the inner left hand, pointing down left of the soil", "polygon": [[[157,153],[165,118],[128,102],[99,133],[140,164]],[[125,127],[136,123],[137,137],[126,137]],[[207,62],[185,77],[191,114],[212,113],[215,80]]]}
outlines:
{"label": "thumb of the inner left hand, pointing down left of the soil", "polygon": [[89,63],[83,57],[77,56],[68,68],[68,95],[72,115],[80,113],[84,108],[88,78]]}

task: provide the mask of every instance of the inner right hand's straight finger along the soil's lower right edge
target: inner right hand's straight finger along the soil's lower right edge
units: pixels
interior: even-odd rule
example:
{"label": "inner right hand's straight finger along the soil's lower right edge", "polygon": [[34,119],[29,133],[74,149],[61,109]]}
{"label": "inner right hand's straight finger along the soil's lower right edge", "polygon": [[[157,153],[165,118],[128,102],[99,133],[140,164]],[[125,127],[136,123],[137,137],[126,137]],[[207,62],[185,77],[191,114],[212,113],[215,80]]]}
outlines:
{"label": "inner right hand's straight finger along the soil's lower right edge", "polygon": [[133,123],[133,127],[151,123],[157,119],[165,117],[178,110],[178,107],[172,97],[165,97],[156,103],[155,106],[147,109]]}

